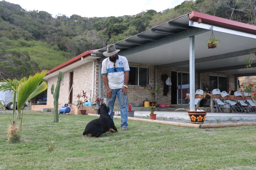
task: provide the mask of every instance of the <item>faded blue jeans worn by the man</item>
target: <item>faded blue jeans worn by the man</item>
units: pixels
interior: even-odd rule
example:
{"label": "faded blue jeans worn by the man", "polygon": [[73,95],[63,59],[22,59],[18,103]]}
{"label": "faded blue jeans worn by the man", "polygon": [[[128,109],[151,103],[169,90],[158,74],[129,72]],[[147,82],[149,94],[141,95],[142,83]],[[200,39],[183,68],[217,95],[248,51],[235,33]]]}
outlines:
{"label": "faded blue jeans worn by the man", "polygon": [[128,109],[127,109],[127,99],[128,95],[124,95],[122,89],[111,89],[113,93],[111,94],[111,98],[107,98],[107,106],[110,108],[110,112],[108,113],[110,117],[113,119],[113,108],[114,103],[116,101],[116,96],[118,98],[118,102],[120,105],[121,111],[121,127],[128,127]]}

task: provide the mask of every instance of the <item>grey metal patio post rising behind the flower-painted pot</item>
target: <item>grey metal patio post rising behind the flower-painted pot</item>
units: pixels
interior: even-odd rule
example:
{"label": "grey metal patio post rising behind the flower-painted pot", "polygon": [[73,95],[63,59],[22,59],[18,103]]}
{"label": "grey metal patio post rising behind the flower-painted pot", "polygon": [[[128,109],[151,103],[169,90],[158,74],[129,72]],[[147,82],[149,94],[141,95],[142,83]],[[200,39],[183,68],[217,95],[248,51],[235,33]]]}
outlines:
{"label": "grey metal patio post rising behind the flower-painted pot", "polygon": [[194,93],[195,93],[195,65],[194,65],[194,36],[190,36],[190,110],[195,109]]}

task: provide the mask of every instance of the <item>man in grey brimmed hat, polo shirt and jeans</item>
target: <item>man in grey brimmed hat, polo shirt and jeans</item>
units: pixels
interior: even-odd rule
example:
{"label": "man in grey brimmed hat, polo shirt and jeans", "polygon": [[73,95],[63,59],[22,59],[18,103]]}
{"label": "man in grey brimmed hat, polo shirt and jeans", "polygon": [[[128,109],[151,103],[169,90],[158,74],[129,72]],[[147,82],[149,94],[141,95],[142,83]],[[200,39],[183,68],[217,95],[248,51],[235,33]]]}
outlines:
{"label": "man in grey brimmed hat, polo shirt and jeans", "polygon": [[101,74],[107,89],[109,115],[113,119],[113,108],[117,96],[121,111],[121,130],[128,130],[127,85],[130,68],[126,57],[117,54],[119,51],[113,44],[107,46],[107,51],[103,52],[103,55],[108,58],[102,61]]}

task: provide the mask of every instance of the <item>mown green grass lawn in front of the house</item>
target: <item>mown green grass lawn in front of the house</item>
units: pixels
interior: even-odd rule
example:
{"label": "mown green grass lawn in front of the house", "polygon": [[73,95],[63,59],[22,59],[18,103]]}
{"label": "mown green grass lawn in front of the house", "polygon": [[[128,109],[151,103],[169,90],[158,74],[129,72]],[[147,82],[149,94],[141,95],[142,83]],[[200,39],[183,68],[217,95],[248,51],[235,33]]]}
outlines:
{"label": "mown green grass lawn in front of the house", "polygon": [[[194,129],[129,121],[129,130],[83,136],[88,115],[26,111],[22,138],[8,143],[7,116],[0,111],[2,169],[256,169],[256,126]],[[120,119],[114,119],[120,130]],[[53,151],[47,148],[54,141]]]}

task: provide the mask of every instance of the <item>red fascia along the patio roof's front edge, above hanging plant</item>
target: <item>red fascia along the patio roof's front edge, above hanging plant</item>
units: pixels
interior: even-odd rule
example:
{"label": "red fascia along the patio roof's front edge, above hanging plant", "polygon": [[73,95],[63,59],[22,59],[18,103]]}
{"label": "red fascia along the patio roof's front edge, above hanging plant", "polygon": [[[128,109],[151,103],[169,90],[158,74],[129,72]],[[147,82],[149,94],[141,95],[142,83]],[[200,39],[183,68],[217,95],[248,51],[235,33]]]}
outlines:
{"label": "red fascia along the patio roof's front edge, above hanging plant", "polygon": [[230,28],[234,30],[240,30],[246,33],[256,34],[256,26],[254,25],[233,21],[230,19],[215,17],[212,15],[208,15],[208,14],[200,13],[196,11],[191,12],[190,19],[197,21],[197,19],[199,18],[201,18],[203,23],[212,24],[212,25],[220,26],[224,28]]}

